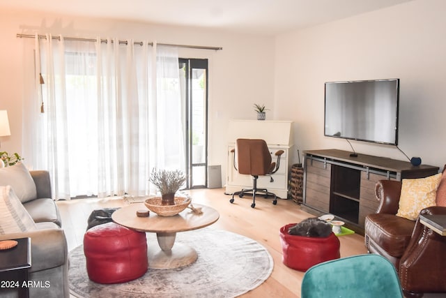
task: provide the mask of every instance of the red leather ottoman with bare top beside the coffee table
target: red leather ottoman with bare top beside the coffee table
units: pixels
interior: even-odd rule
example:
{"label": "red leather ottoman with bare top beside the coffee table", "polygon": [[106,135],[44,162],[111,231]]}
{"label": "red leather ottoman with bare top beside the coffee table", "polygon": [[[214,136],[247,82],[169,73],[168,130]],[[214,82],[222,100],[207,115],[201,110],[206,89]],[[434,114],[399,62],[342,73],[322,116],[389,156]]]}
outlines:
{"label": "red leather ottoman with bare top beside the coffee table", "polygon": [[125,283],[148,267],[146,233],[118,225],[96,225],[84,234],[86,271],[96,283]]}

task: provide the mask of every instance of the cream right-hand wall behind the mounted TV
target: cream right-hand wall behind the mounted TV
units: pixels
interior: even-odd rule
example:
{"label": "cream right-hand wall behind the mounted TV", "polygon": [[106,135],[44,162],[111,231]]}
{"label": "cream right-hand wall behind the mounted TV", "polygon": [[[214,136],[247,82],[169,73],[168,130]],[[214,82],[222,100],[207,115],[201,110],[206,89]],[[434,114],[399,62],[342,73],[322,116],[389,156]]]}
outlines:
{"label": "cream right-hand wall behind the mounted TV", "polygon": [[[446,1],[417,0],[277,36],[275,116],[295,121],[295,147],[351,150],[323,136],[324,82],[399,78],[399,147],[446,163]],[[396,147],[351,142],[363,154],[407,160]]]}

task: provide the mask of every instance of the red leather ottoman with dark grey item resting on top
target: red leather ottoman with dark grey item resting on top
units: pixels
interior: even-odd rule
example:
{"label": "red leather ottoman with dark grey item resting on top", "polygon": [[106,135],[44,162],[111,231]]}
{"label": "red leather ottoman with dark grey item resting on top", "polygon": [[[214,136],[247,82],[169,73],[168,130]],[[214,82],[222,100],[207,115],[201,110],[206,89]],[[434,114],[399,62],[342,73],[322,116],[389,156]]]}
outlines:
{"label": "red leather ottoman with dark grey item resting on top", "polygon": [[282,244],[282,262],[292,269],[307,271],[318,263],[339,259],[339,239],[332,232],[328,237],[305,237],[288,234],[288,229],[295,223],[280,228]]}

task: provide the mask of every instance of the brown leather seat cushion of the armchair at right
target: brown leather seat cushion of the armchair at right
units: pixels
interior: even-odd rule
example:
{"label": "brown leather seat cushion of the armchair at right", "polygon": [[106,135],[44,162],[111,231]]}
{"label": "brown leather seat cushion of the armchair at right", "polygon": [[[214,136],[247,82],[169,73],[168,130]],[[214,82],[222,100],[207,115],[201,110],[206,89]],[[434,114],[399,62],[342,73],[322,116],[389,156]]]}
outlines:
{"label": "brown leather seat cushion of the armchair at right", "polygon": [[365,218],[367,236],[395,258],[401,258],[412,237],[415,221],[393,214],[369,214]]}

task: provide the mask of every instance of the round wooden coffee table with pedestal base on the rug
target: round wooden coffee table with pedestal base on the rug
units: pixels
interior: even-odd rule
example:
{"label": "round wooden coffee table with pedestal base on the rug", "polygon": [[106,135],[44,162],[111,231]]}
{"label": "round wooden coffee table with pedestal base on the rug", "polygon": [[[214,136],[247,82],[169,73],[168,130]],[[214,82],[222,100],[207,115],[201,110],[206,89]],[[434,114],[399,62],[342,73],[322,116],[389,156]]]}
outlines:
{"label": "round wooden coffee table with pedestal base on the rug", "polygon": [[158,216],[151,211],[148,217],[138,217],[138,210],[147,210],[144,203],[130,204],[114,211],[112,219],[115,223],[139,232],[155,232],[159,247],[148,245],[148,267],[153,269],[172,269],[190,265],[198,258],[194,248],[175,242],[177,232],[197,230],[212,225],[220,214],[217,210],[201,204],[202,214],[185,209],[176,216]]}

